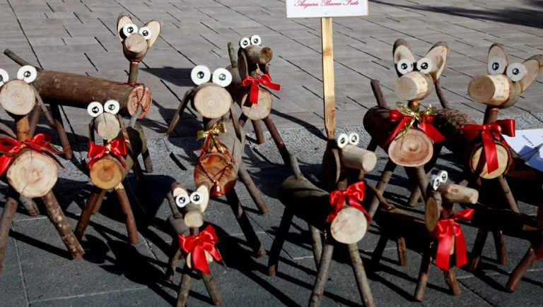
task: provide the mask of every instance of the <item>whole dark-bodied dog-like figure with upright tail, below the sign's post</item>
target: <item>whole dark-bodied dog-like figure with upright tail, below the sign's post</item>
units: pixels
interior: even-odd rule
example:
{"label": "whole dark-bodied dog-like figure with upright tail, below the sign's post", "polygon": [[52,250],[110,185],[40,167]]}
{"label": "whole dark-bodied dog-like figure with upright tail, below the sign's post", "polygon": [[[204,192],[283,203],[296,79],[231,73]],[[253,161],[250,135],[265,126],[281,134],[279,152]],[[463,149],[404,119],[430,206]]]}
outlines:
{"label": "whole dark-bodied dog-like figure with upright tail, below the sign's post", "polygon": [[[363,171],[371,171],[375,167],[377,158],[373,152],[357,148],[358,139],[357,133],[349,136],[341,133],[334,141],[335,145],[332,145],[332,140],[327,145],[322,165],[323,178],[325,184],[335,191],[329,193],[305,179],[293,155],[289,158],[293,176],[288,177],[279,187],[279,200],[285,205],[285,211],[269,252],[268,274],[276,275],[279,253],[293,216],[308,222],[313,239],[315,264],[318,267],[310,306],[320,305],[334,247],[339,243],[348,246],[358,291],[364,305],[375,306],[357,243],[366,233],[370,222],[366,210],[358,203],[363,200],[366,188],[366,183],[359,180],[363,179]],[[362,174],[356,176],[358,182],[347,186],[346,173],[355,169]],[[331,234],[326,236],[324,248],[320,243],[320,231]]]}

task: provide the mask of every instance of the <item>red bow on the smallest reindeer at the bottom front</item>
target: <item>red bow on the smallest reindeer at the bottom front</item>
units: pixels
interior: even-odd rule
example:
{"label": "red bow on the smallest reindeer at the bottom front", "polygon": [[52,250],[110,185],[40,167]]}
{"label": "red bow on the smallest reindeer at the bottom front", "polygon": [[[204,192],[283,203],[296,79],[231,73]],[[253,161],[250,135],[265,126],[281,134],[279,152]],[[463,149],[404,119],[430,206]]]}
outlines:
{"label": "red bow on the smallest reindeer at the bottom front", "polygon": [[197,234],[196,236],[183,236],[177,235],[179,239],[179,246],[185,253],[191,253],[191,264],[194,269],[200,270],[206,274],[209,274],[209,265],[207,265],[206,251],[213,256],[216,261],[221,261],[221,254],[218,253],[218,249],[215,244],[218,242],[215,229],[208,225],[206,229]]}

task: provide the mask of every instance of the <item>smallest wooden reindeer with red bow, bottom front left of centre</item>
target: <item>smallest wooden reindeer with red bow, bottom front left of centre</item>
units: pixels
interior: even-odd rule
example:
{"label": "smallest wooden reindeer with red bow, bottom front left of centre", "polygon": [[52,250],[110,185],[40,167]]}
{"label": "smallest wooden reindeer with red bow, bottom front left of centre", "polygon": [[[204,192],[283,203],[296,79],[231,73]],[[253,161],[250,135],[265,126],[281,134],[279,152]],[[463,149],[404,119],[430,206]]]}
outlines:
{"label": "smallest wooden reindeer with red bow, bottom front left of centre", "polygon": [[222,260],[221,254],[214,246],[218,239],[211,225],[199,232],[199,228],[204,224],[202,214],[209,203],[209,188],[204,185],[199,186],[189,195],[185,186],[175,181],[172,183],[171,191],[166,194],[166,198],[172,210],[172,215],[168,217],[168,225],[173,236],[166,280],[173,281],[177,260],[185,257],[185,267],[177,294],[177,306],[185,306],[187,303],[192,270],[196,270],[202,278],[214,304],[220,305],[221,295],[218,293],[208,266],[213,260]]}

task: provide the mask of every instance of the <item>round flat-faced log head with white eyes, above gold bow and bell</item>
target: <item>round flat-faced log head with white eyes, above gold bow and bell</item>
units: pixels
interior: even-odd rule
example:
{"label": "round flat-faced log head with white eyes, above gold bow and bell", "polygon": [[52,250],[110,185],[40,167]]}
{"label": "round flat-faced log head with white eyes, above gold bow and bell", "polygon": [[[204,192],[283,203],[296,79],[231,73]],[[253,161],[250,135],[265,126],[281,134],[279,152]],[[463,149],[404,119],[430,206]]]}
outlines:
{"label": "round flat-faced log head with white eyes, above gold bow and bell", "polygon": [[228,70],[218,68],[211,75],[209,68],[198,65],[192,68],[190,76],[197,86],[187,99],[199,114],[207,119],[218,119],[230,111],[233,100],[226,87],[232,82],[232,74]]}

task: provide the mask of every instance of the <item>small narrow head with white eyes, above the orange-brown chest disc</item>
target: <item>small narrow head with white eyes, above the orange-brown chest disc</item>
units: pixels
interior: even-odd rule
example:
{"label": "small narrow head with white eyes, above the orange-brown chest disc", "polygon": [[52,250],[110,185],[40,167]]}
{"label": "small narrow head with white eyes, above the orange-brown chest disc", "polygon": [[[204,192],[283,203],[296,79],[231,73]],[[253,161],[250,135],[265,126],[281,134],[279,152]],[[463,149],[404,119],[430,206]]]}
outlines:
{"label": "small narrow head with white eyes, above the orange-brown chest disc", "polygon": [[121,131],[120,119],[117,117],[117,112],[119,112],[119,102],[117,100],[107,100],[104,104],[91,102],[88,104],[87,112],[93,116],[92,126],[94,126],[98,136],[104,140],[117,138]]}

